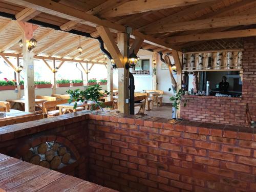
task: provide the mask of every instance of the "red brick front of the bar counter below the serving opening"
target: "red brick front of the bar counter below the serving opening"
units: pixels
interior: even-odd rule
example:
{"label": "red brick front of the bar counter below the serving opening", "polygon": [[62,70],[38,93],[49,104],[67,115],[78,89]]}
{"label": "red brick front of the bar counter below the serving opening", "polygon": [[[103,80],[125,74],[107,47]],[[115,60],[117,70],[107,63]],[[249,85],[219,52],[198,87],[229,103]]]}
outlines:
{"label": "red brick front of the bar counter below the serving opening", "polygon": [[242,98],[186,95],[181,118],[193,121],[246,125],[246,102]]}

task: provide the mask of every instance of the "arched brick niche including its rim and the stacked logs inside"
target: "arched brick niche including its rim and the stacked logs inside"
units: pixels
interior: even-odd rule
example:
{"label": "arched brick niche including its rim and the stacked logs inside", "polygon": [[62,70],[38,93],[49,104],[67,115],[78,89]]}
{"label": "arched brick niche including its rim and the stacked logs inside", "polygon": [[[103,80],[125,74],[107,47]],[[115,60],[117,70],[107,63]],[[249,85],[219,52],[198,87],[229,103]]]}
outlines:
{"label": "arched brick niche including its rim and the stacked logs inside", "polygon": [[76,166],[80,160],[76,147],[68,139],[54,135],[28,140],[19,148],[15,157],[59,172]]}

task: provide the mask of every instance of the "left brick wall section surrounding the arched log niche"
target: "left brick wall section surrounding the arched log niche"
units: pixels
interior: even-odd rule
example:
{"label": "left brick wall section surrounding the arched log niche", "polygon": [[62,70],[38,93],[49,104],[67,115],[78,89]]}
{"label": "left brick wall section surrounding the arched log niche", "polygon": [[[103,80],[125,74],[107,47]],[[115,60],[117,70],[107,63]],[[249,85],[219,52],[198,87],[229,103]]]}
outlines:
{"label": "left brick wall section surrounding the arched log niche", "polygon": [[30,147],[46,141],[56,141],[65,145],[76,162],[57,169],[61,173],[87,179],[87,123],[86,116],[74,118],[63,115],[56,118],[42,119],[0,127],[0,153],[20,159]]}

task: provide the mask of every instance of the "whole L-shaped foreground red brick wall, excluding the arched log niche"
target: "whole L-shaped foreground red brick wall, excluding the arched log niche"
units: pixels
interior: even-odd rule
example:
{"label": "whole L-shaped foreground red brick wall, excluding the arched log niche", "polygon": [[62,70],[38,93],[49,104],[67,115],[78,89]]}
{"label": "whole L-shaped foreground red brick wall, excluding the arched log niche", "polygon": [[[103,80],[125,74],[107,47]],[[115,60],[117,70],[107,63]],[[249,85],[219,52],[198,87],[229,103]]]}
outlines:
{"label": "whole L-shaped foreground red brick wall, excluding the arched log niche", "polygon": [[120,191],[256,191],[247,127],[82,111],[0,127],[0,136],[11,156],[38,137],[64,137],[84,159],[73,175]]}

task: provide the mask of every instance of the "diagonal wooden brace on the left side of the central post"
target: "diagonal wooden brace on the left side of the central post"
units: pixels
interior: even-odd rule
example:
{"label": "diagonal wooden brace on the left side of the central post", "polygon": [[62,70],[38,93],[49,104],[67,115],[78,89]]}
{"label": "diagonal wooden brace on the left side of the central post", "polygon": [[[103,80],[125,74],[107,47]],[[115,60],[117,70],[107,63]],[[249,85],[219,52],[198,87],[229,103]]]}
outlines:
{"label": "diagonal wooden brace on the left side of the central post", "polygon": [[119,51],[115,39],[112,36],[109,28],[100,26],[97,27],[97,31],[100,34],[100,37],[103,39],[106,47],[108,48],[112,58],[114,59],[116,66],[118,68],[124,68],[124,59],[123,56],[121,54],[121,52]]}

